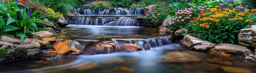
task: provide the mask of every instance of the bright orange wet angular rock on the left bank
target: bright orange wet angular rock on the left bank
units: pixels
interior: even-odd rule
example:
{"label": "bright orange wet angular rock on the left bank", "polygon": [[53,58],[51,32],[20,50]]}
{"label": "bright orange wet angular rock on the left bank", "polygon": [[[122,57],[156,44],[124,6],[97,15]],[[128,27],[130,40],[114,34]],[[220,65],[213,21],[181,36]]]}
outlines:
{"label": "bright orange wet angular rock on the left bank", "polygon": [[69,55],[75,53],[74,55],[79,55],[81,50],[75,47],[75,44],[68,40],[60,40],[53,45],[53,49],[58,51],[61,56]]}

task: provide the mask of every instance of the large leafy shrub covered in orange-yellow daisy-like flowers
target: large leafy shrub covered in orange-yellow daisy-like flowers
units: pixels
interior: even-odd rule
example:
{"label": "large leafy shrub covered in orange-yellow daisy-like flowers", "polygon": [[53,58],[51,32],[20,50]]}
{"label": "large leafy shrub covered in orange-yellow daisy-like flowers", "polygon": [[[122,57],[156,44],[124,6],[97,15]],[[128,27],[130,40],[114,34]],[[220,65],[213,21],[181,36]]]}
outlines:
{"label": "large leafy shrub covered in orange-yellow daisy-like flowers", "polygon": [[202,40],[216,43],[233,43],[241,29],[255,24],[255,9],[249,10],[238,3],[221,3],[215,8],[202,12],[190,21],[193,34]]}

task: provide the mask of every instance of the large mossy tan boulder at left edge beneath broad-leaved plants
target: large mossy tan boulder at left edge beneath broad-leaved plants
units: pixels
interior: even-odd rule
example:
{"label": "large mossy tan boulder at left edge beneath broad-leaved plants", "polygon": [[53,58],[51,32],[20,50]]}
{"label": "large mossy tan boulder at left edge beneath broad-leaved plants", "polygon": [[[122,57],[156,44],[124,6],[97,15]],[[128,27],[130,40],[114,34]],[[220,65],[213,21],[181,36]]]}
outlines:
{"label": "large mossy tan boulder at left edge beneath broad-leaved plants", "polygon": [[27,59],[41,54],[40,44],[28,38],[21,42],[9,36],[1,36],[0,46],[0,62]]}

